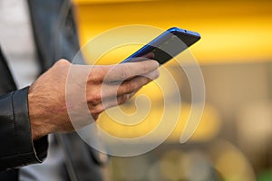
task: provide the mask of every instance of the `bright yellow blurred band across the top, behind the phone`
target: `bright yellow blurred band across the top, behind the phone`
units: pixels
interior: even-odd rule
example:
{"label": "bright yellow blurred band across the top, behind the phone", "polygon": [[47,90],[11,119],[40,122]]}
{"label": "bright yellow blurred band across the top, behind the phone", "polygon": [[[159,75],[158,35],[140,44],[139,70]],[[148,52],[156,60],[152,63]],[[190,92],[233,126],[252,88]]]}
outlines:
{"label": "bright yellow blurred band across the top, behind the phone", "polygon": [[[74,0],[82,43],[111,28],[147,24],[178,26],[202,35],[191,48],[200,63],[259,61],[271,57],[269,0]],[[220,61],[219,61],[220,60]]]}

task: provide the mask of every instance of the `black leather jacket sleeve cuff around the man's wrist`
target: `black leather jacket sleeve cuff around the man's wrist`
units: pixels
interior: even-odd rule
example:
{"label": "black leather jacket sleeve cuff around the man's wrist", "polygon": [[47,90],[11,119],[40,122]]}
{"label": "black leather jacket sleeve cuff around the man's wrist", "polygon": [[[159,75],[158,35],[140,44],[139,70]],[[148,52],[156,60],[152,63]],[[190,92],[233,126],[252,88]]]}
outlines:
{"label": "black leather jacket sleeve cuff around the man's wrist", "polygon": [[28,87],[0,97],[0,170],[39,163],[47,154],[47,137],[32,141]]}

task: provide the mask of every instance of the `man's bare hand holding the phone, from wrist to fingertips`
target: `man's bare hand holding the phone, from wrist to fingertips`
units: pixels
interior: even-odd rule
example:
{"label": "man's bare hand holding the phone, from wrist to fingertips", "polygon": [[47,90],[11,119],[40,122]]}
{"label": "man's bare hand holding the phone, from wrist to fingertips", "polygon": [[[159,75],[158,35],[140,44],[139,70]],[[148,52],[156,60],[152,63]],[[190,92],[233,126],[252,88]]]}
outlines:
{"label": "man's bare hand holding the phone, from wrist to fingertips", "polygon": [[[72,75],[69,74],[72,77],[80,77],[81,72],[90,72],[87,81],[78,79],[69,83],[73,83],[74,93],[78,92],[77,89],[86,90],[85,101],[94,120],[98,119],[103,110],[131,99],[137,90],[159,76],[159,63],[155,61],[105,66],[72,65],[65,60],[56,62],[29,88],[29,116],[34,140],[53,132],[73,131],[67,112],[71,108],[67,108],[65,99],[67,76],[71,66],[76,70],[72,71]],[[76,105],[69,107],[80,112],[80,107]],[[87,122],[83,120],[80,125],[85,126]]]}

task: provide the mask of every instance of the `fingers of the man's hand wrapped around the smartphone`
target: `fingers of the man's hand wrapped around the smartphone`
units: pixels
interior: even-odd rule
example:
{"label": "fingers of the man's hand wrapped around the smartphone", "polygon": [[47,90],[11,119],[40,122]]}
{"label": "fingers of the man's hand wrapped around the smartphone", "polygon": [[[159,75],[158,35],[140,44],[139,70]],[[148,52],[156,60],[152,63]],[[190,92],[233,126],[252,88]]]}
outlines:
{"label": "fingers of the man's hand wrapped around the smartphone", "polygon": [[[153,54],[146,56],[152,57]],[[159,63],[152,60],[89,68],[86,99],[94,116],[131,99],[142,86],[160,75]]]}

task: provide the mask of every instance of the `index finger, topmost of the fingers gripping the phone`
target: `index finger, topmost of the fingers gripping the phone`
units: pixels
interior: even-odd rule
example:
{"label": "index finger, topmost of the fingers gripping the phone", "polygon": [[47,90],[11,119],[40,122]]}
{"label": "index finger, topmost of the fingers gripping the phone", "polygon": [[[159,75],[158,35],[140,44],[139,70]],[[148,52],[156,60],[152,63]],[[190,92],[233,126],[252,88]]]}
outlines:
{"label": "index finger, topmost of the fingers gripping the phone", "polygon": [[118,65],[93,66],[89,75],[89,81],[124,81],[132,77],[143,75],[158,69],[156,61],[127,62]]}

